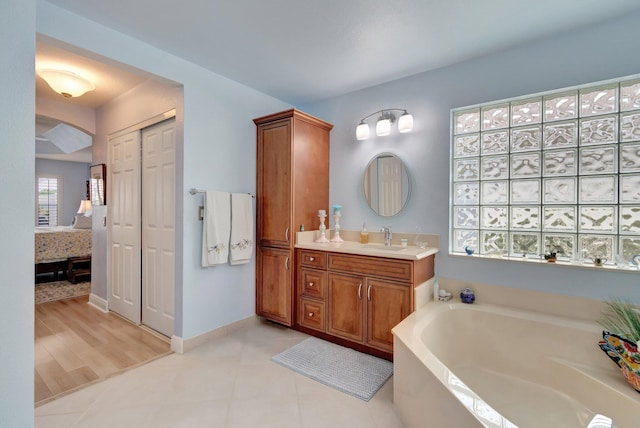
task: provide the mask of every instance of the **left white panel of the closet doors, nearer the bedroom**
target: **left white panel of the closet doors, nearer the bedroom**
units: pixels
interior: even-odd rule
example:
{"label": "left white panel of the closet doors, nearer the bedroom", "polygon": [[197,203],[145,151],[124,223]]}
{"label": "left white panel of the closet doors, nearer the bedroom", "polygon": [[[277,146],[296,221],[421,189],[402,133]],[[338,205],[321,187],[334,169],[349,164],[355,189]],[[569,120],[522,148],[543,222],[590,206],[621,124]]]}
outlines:
{"label": "left white panel of the closet doors, nearer the bedroom", "polygon": [[140,324],[140,132],[109,146],[109,308]]}

